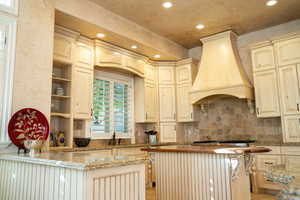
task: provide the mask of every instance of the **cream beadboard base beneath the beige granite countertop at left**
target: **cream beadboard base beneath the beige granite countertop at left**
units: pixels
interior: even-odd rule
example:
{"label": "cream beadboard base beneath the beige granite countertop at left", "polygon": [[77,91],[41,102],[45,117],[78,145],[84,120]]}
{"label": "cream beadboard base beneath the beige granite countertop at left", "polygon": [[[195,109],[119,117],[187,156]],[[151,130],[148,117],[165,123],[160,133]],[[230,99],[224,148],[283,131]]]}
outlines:
{"label": "cream beadboard base beneath the beige granite countertop at left", "polygon": [[145,165],[90,171],[0,160],[2,200],[144,200]]}

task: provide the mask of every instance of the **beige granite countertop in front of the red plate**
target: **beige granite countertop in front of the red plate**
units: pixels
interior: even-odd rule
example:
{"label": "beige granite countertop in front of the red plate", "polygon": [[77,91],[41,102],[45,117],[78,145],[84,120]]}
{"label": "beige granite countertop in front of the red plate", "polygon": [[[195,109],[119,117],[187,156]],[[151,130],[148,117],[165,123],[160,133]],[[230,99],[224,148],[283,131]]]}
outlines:
{"label": "beige granite countertop in front of the red plate", "polygon": [[0,154],[0,160],[26,162],[38,165],[72,168],[77,170],[93,170],[99,168],[118,167],[141,164],[147,160],[146,155],[108,155],[105,151],[83,152],[47,152],[35,156],[28,154]]}

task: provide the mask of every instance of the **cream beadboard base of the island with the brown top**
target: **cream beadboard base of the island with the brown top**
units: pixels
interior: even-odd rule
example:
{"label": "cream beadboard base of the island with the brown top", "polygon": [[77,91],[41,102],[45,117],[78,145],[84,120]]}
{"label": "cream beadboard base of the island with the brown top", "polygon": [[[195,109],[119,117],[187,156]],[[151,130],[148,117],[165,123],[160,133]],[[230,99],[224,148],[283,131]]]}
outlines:
{"label": "cream beadboard base of the island with the brown top", "polygon": [[230,162],[228,155],[155,153],[157,200],[250,200],[244,169],[232,181]]}

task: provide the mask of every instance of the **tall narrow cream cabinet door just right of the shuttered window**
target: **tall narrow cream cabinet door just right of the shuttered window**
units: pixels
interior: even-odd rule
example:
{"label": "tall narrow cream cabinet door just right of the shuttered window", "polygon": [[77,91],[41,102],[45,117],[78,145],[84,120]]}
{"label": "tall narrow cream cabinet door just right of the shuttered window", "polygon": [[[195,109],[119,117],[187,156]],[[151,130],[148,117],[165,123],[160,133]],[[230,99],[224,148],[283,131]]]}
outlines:
{"label": "tall narrow cream cabinet door just right of the shuttered window", "polygon": [[155,84],[145,84],[145,119],[147,122],[157,122],[157,88]]}

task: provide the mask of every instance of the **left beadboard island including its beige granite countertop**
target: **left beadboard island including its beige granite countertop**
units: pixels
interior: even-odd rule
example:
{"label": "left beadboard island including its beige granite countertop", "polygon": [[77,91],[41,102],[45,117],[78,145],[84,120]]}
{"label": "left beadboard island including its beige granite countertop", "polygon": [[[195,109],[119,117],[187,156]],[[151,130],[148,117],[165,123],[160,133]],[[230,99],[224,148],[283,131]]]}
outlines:
{"label": "left beadboard island including its beige granite countertop", "polygon": [[0,154],[0,199],[144,200],[146,156]]}

